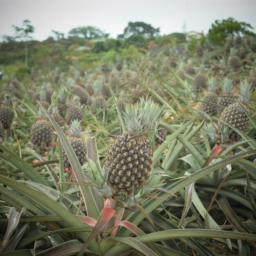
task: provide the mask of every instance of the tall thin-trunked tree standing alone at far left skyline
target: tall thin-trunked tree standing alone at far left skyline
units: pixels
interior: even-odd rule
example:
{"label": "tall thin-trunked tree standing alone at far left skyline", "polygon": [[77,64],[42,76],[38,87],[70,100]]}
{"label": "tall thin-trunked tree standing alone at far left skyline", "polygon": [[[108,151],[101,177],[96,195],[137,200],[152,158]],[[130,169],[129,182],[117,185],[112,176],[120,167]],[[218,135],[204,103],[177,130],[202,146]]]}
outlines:
{"label": "tall thin-trunked tree standing alone at far left skyline", "polygon": [[32,37],[30,34],[34,33],[35,28],[30,24],[29,20],[23,20],[22,27],[18,27],[13,25],[12,27],[15,29],[16,36],[19,40],[25,42],[25,65],[27,67],[27,42]]}

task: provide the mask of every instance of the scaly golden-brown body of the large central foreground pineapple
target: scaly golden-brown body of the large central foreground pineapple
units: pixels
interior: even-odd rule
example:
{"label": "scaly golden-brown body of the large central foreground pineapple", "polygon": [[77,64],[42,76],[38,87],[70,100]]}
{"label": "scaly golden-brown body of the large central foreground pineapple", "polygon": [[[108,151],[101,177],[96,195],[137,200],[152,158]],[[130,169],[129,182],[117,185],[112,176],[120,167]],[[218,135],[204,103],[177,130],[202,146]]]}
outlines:
{"label": "scaly golden-brown body of the large central foreground pineapple", "polygon": [[146,136],[131,135],[128,131],[118,136],[111,144],[105,162],[108,182],[113,189],[132,193],[150,177],[152,168],[152,146]]}

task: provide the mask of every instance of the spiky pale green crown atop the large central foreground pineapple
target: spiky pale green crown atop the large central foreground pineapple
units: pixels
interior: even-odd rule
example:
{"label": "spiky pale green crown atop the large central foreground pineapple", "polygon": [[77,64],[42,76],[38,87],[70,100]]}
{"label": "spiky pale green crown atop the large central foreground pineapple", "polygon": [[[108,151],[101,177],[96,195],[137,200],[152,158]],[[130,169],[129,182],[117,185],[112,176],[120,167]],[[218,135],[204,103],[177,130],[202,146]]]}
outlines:
{"label": "spiky pale green crown atop the large central foreground pineapple", "polygon": [[159,104],[143,98],[141,98],[140,104],[125,104],[124,121],[130,134],[148,134],[153,128],[156,128],[156,123],[163,112],[163,108],[159,109],[158,107]]}

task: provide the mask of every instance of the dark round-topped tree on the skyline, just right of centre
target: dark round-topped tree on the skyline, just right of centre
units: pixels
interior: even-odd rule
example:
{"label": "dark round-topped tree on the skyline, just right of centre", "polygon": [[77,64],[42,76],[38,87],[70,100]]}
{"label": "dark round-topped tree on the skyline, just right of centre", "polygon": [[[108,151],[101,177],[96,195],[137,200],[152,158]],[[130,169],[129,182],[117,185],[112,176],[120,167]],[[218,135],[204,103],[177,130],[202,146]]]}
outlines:
{"label": "dark round-topped tree on the skyline, just right of centre", "polygon": [[118,35],[118,38],[129,38],[134,35],[141,35],[148,38],[153,38],[159,34],[160,29],[154,28],[150,24],[142,21],[129,22],[128,26],[124,29],[124,33]]}

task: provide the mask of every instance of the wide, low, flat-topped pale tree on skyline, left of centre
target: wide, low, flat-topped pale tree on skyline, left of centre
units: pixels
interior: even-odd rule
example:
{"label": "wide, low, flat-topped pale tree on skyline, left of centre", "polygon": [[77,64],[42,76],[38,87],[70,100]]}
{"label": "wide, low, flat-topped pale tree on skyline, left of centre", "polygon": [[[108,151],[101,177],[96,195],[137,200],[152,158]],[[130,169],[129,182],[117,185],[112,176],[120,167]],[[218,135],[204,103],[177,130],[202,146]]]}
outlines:
{"label": "wide, low, flat-topped pale tree on skyline, left of centre", "polygon": [[108,38],[109,36],[109,34],[105,33],[104,31],[92,26],[76,27],[71,29],[68,34],[70,36],[84,38],[85,40]]}

